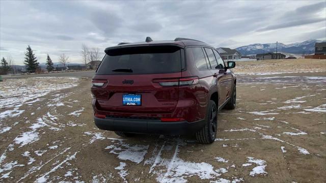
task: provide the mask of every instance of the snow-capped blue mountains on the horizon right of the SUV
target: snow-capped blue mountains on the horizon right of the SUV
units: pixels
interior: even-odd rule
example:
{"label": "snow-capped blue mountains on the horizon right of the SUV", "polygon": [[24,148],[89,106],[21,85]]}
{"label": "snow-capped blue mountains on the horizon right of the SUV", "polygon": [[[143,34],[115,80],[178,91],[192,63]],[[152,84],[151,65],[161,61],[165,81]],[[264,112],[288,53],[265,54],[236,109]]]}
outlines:
{"label": "snow-capped blue mountains on the horizon right of the SUV", "polygon": [[[292,44],[277,44],[278,52],[287,52],[287,53],[297,53],[297,54],[309,54],[315,52],[315,43],[320,43],[320,40],[308,40],[302,43],[292,43]],[[241,46],[236,48],[242,55],[250,55],[250,54],[259,54],[267,52],[275,52],[276,51],[276,43],[266,43],[266,44],[251,44],[247,46]]]}

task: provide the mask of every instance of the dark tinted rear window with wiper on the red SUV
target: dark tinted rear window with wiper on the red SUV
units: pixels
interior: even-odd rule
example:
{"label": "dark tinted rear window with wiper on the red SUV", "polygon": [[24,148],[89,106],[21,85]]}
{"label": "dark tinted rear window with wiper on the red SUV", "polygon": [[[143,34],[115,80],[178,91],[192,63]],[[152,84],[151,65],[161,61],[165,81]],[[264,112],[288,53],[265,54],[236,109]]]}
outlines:
{"label": "dark tinted rear window with wiper on the red SUV", "polygon": [[181,71],[177,46],[144,46],[107,50],[96,74],[156,74]]}

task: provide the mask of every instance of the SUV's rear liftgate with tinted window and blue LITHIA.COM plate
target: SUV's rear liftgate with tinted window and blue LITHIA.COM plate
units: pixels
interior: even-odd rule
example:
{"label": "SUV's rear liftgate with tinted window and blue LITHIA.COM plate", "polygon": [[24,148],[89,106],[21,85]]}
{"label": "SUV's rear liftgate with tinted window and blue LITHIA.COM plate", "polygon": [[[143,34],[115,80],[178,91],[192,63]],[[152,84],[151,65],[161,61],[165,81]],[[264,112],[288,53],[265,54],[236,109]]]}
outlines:
{"label": "SUV's rear liftgate with tinted window and blue LITHIA.COM plate", "polygon": [[[173,112],[179,94],[172,78],[181,77],[183,54],[183,49],[177,46],[138,46],[106,51],[93,81],[107,82],[102,87],[92,87],[100,108],[126,113]],[[168,84],[172,85],[163,87],[156,81],[171,81]]]}

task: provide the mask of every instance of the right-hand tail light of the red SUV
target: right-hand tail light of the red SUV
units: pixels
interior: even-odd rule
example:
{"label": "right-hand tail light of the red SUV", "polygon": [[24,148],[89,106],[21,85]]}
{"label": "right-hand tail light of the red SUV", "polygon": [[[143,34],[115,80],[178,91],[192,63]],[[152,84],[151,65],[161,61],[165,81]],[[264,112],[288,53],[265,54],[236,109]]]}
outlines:
{"label": "right-hand tail light of the red SUV", "polygon": [[161,86],[191,86],[199,83],[198,77],[170,78],[170,79],[154,79]]}

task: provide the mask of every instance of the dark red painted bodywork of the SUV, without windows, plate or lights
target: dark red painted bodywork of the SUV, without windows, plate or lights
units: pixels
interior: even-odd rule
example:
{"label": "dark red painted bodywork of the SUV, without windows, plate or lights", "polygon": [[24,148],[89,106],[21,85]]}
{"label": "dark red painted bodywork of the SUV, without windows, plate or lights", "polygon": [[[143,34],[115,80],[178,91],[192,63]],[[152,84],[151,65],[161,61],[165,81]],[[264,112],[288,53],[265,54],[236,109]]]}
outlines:
{"label": "dark red painted bodywork of the SUV, without windows, plate or lights", "polygon": [[[154,43],[151,43],[154,44]],[[178,43],[180,44],[180,43]],[[210,47],[209,45],[201,45]],[[205,118],[208,101],[218,93],[220,106],[230,97],[235,75],[229,69],[199,70],[195,61],[187,52],[187,46],[181,48],[184,54],[185,69],[167,74],[119,74],[95,75],[94,82],[107,81],[103,87],[91,87],[95,114],[124,117],[154,117],[161,121],[188,122]],[[214,49],[214,48],[212,48]],[[124,80],[133,80],[133,84],[123,84]],[[162,86],[160,82],[193,81],[192,85]],[[123,94],[141,94],[141,106],[123,106]]]}

